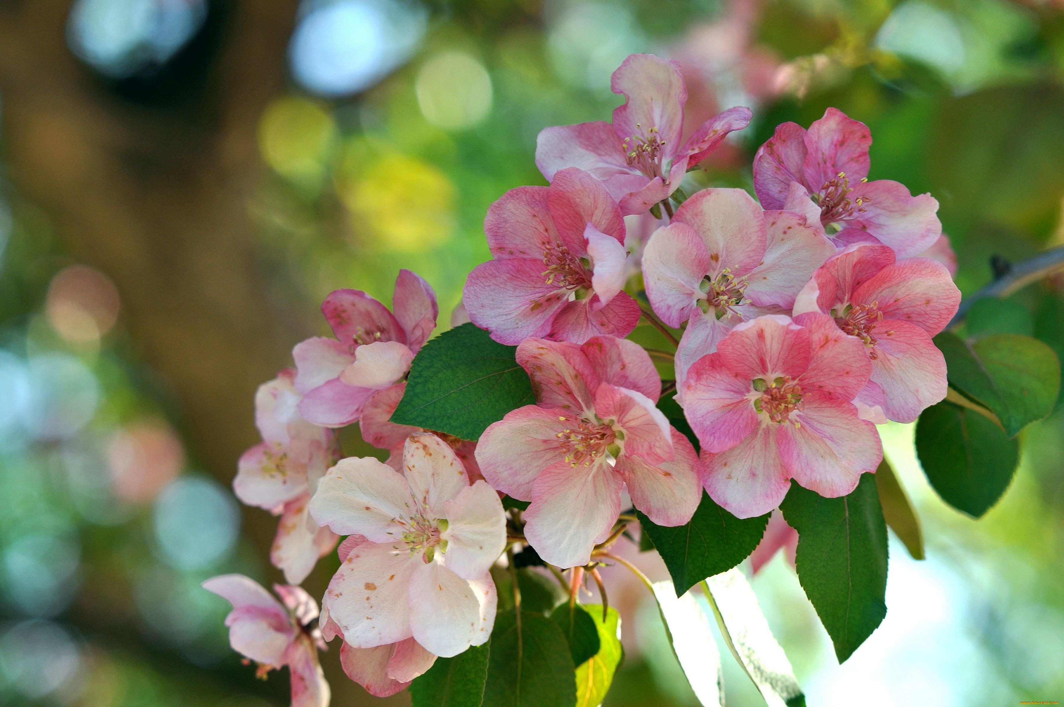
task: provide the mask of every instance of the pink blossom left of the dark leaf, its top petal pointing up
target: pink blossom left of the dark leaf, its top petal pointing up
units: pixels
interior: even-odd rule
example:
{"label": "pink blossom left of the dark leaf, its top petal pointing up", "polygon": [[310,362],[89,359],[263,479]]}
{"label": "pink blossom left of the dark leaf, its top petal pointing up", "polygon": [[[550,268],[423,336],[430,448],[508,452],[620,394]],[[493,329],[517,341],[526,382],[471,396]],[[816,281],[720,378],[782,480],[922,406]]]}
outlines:
{"label": "pink blossom left of the dark leaf, its top petal pointing up", "polygon": [[336,339],[315,336],[292,351],[303,417],[323,427],[349,425],[373,393],[406,375],[436,326],[436,293],[414,273],[399,270],[392,306],[395,314],[359,290],[326,297],[321,312]]}

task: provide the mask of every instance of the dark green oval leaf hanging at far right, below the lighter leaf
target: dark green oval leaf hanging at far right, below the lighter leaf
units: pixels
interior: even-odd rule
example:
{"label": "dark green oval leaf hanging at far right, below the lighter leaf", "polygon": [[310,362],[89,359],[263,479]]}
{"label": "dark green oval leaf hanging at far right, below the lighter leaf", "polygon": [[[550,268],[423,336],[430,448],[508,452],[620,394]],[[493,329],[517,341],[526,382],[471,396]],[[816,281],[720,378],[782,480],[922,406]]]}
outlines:
{"label": "dark green oval leaf hanging at far right, below the lighter leaf", "polygon": [[1019,442],[979,413],[940,402],[916,423],[916,455],[942,499],[979,517],[1009,488]]}

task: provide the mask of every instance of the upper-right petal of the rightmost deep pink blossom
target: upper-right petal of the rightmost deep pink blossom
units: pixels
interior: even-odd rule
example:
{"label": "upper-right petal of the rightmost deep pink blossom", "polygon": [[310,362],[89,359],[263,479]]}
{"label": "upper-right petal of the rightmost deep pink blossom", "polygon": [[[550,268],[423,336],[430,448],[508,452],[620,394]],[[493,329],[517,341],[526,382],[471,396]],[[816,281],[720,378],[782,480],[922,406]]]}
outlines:
{"label": "upper-right petal of the rightmost deep pink blossom", "polygon": [[909,322],[934,336],[957,314],[961,291],[942,263],[909,258],[880,270],[853,293],[852,301],[876,301],[884,318]]}

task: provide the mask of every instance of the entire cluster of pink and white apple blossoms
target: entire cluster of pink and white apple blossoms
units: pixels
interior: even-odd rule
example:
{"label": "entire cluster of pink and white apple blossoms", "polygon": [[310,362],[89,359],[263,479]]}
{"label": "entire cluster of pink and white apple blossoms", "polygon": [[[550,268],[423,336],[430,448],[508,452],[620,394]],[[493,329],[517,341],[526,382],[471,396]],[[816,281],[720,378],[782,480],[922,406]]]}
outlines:
{"label": "entire cluster of pink and white apple blossoms", "polygon": [[[777,509],[792,481],[846,495],[882,459],[876,424],[912,422],[945,397],[931,338],[960,293],[937,202],[868,181],[863,124],[829,109],[809,130],[782,125],[754,158],[757,200],[688,197],[684,175],[750,111],[688,134],[679,66],[649,54],[626,60],[613,89],[626,102],[612,125],[541,133],[549,186],[488,209],[493,260],[463,293],[472,324],[517,347],[535,404],[479,440],[390,422],[438,314],[409,270],[390,311],[363,292],[329,295],[335,339],[302,342],[296,369],[260,389],[263,443],[240,459],[236,493],[281,515],[271,560],[290,585],[346,537],[340,569],[320,616],[297,587],[277,587],[283,606],[247,578],[205,587],[233,604],[236,651],[263,671],[289,667],[294,704],[328,703],[325,641],[340,639],[345,672],[377,695],[487,641],[489,569],[515,543],[579,570],[630,508],[678,526],[703,489],[738,517]],[[677,344],[667,388],[626,339],[641,317]],[[659,409],[663,390],[700,451]],[[333,430],[356,422],[386,463],[343,458]],[[503,494],[528,505],[508,514]],[[764,543],[757,564],[793,548],[778,511]]]}

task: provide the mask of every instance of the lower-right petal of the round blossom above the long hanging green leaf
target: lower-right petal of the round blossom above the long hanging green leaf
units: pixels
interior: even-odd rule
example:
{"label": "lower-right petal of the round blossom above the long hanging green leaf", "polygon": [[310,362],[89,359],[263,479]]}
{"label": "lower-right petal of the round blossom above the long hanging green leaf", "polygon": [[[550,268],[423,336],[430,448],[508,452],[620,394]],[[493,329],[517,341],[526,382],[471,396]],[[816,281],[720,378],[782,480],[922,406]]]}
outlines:
{"label": "lower-right petal of the round blossom above the long hanging green leaf", "polygon": [[849,400],[802,391],[802,409],[792,420],[801,426],[777,424],[780,458],[791,477],[821,496],[845,496],[883,460],[876,426],[860,420]]}

